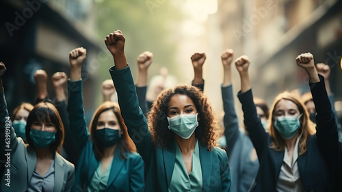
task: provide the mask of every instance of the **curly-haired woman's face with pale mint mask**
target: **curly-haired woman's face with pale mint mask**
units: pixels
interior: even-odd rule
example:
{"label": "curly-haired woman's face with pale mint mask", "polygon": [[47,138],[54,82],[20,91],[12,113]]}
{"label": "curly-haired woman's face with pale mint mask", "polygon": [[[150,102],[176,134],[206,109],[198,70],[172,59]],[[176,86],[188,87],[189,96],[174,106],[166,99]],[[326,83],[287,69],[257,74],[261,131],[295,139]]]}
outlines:
{"label": "curly-haired woman's face with pale mint mask", "polygon": [[183,139],[189,139],[198,127],[198,112],[187,95],[174,95],[168,104],[168,128]]}

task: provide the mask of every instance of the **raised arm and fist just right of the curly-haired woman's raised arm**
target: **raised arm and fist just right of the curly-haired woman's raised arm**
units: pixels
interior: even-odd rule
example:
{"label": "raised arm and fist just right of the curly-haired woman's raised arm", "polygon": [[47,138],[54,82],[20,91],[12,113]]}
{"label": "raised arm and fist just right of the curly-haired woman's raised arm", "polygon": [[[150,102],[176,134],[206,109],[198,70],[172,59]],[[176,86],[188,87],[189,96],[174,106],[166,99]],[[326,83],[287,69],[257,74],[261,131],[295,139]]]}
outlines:
{"label": "raised arm and fist just right of the curly-haired woman's raised arm", "polygon": [[137,89],[137,98],[139,99],[139,106],[142,108],[144,114],[148,112],[148,106],[146,101],[147,92],[147,77],[148,67],[153,62],[153,53],[150,51],[144,51],[137,57],[137,82],[135,86]]}

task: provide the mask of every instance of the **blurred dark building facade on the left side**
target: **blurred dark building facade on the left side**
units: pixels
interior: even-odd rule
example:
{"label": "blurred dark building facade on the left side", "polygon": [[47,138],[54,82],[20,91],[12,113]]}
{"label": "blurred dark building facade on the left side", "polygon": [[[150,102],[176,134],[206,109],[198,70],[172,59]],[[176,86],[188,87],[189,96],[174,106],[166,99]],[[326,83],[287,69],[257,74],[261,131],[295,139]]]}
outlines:
{"label": "blurred dark building facade on the left side", "polygon": [[85,108],[93,108],[96,76],[92,74],[100,51],[94,35],[93,1],[3,0],[0,4],[0,60],[8,69],[3,82],[10,114],[23,101],[34,104],[37,69],[47,71],[49,97],[55,97],[51,75],[57,71],[70,74],[68,53],[76,47],[87,49],[83,91]]}

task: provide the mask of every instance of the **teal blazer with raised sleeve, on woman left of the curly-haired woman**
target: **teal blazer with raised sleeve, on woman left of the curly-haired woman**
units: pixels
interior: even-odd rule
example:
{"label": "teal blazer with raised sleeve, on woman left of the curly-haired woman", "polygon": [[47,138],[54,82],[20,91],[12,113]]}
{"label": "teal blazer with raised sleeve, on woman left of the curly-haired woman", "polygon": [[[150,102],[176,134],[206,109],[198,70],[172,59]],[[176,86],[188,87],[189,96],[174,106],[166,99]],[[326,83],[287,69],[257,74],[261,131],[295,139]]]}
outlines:
{"label": "teal blazer with raised sleeve, on woman left of the curly-haired woman", "polygon": [[[81,155],[76,171],[74,191],[87,191],[88,184],[99,165],[90,140],[83,110],[82,82],[68,82],[68,114],[70,130]],[[120,145],[116,147],[106,191],[142,191],[144,187],[144,162],[136,152],[126,152],[120,157]]]}

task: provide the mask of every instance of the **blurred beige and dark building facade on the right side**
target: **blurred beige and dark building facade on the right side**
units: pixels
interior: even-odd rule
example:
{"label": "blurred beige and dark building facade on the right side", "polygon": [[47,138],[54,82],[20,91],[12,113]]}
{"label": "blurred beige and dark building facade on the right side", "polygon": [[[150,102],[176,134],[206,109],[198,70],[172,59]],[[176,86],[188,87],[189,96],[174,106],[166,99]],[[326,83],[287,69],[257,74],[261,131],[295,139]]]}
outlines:
{"label": "blurred beige and dark building facade on the right side", "polygon": [[[218,8],[224,45],[235,50],[235,58],[250,57],[254,96],[272,104],[281,91],[308,91],[308,78],[295,58],[311,52],[315,63],[330,66],[332,93],[342,100],[342,1],[225,0]],[[239,84],[237,73],[234,79]]]}

